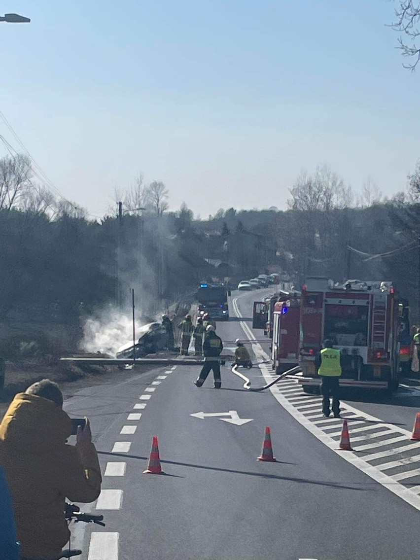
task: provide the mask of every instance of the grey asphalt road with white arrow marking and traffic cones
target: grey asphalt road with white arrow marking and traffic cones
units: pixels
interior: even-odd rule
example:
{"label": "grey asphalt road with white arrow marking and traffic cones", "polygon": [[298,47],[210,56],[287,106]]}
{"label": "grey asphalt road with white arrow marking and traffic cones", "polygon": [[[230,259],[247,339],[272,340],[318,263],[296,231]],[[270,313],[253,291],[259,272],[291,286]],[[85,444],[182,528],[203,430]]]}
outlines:
{"label": "grey asphalt road with white arrow marking and traffic cones", "polygon": [[[234,293],[242,320],[250,317],[256,295]],[[244,339],[235,318],[218,323],[217,332],[227,349]],[[105,473],[101,497],[87,509],[104,514],[106,528],[77,527],[82,558],[418,558],[419,511],[314,437],[272,393],[242,390],[228,368],[222,369],[222,390],[213,389],[210,376],[195,387],[196,366],[169,370],[122,372],[122,379],[66,400],[71,416],[90,417]],[[253,386],[265,384],[258,368],[246,371]],[[410,429],[418,397],[395,399],[352,404]],[[223,421],[235,418],[228,416],[232,410],[251,421]],[[191,416],[199,412],[225,416]],[[265,426],[272,431],[277,463],[256,460]],[[153,435],[165,475],[143,474]],[[111,469],[119,475],[109,475]]]}

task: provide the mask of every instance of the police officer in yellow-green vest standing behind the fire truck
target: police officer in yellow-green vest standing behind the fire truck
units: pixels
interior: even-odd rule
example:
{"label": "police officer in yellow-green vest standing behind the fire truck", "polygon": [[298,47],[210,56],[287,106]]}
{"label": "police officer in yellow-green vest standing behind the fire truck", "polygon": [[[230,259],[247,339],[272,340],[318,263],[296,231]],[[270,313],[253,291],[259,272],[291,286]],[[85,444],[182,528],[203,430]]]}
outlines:
{"label": "police officer in yellow-green vest standing behind the fire truck", "polygon": [[333,397],[334,418],[340,417],[340,401],[338,380],[342,372],[341,353],[333,348],[331,340],[324,340],[323,349],[315,360],[318,375],[321,377],[321,395],[323,395],[323,414],[330,415],[330,394]]}

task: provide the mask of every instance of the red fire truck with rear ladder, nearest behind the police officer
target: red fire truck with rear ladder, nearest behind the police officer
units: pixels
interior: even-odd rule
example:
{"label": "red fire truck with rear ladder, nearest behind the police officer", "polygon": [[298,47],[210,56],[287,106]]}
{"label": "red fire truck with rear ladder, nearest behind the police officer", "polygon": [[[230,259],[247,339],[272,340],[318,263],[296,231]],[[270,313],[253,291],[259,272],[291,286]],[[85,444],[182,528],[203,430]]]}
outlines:
{"label": "red fire truck with rear ladder, nearest behind the police officer", "polygon": [[392,282],[348,281],[338,286],[327,278],[308,278],[300,307],[299,379],[307,393],[320,381],[315,368],[323,340],[330,339],[343,357],[340,385],[398,387],[399,309]]}

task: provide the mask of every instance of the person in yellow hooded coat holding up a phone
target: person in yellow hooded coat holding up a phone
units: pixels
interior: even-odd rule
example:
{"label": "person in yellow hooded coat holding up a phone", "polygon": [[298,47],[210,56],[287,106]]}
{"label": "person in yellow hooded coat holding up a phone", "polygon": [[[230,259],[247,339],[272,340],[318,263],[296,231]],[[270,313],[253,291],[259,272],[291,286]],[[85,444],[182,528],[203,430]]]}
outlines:
{"label": "person in yellow hooded coat holding up a phone", "polygon": [[43,379],[18,393],[0,423],[0,465],[15,512],[22,560],[59,558],[70,532],[65,498],[93,502],[101,469],[87,418],[76,445],[68,445],[72,421],[56,383]]}

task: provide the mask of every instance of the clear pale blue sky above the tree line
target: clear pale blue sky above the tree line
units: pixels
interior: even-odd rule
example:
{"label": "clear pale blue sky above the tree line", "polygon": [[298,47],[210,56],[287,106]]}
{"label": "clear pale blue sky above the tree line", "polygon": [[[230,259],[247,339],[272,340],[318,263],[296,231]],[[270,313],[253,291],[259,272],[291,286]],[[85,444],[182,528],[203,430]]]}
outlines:
{"label": "clear pale blue sky above the tree line", "polygon": [[284,208],[298,172],[324,163],[391,195],[420,156],[419,76],[385,27],[394,6],[8,0],[2,13],[32,21],[0,23],[0,110],[98,216],[139,172],[202,217]]}

